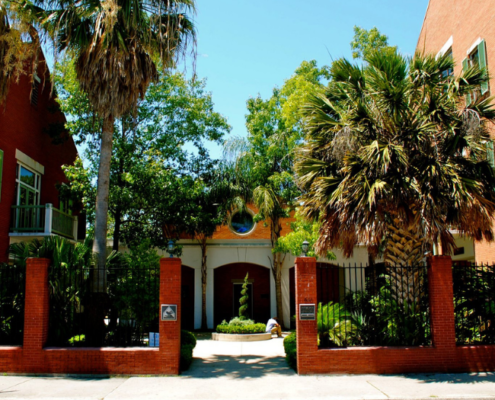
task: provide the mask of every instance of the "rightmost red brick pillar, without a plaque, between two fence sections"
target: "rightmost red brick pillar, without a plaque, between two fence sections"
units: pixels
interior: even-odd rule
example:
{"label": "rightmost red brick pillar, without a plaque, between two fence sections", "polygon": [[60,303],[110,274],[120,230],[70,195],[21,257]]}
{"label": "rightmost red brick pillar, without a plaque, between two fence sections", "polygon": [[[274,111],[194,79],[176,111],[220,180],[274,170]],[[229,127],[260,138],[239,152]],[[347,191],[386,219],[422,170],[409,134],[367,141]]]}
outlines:
{"label": "rightmost red brick pillar, without a plaque, between two fence sections", "polygon": [[433,346],[445,352],[442,355],[445,363],[454,362],[456,343],[452,259],[450,256],[430,257],[428,266]]}

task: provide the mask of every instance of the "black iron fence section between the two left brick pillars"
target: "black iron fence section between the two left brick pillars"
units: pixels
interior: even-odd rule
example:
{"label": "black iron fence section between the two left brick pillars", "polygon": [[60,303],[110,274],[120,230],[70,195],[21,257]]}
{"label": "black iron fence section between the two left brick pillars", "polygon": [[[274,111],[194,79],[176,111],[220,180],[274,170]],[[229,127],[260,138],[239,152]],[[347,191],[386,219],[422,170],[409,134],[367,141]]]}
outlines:
{"label": "black iron fence section between the two left brick pillars", "polygon": [[50,268],[48,346],[149,346],[160,268]]}

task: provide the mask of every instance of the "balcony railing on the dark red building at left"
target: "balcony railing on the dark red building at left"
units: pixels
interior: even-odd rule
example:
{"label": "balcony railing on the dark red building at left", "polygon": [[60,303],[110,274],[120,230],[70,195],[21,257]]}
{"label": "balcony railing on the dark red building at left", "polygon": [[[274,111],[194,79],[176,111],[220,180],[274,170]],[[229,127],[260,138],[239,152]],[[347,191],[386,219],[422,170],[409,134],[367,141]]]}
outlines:
{"label": "balcony railing on the dark red building at left", "polygon": [[77,239],[77,217],[66,214],[52,204],[12,206],[10,232],[13,234],[56,234]]}

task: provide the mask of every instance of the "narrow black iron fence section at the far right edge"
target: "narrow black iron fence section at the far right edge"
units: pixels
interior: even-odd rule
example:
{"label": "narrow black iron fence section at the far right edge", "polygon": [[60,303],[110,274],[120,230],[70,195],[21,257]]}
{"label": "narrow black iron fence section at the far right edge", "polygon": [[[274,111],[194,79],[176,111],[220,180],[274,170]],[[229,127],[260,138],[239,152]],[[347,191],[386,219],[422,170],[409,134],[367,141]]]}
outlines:
{"label": "narrow black iron fence section at the far right edge", "polygon": [[495,344],[495,265],[459,262],[452,272],[457,344]]}

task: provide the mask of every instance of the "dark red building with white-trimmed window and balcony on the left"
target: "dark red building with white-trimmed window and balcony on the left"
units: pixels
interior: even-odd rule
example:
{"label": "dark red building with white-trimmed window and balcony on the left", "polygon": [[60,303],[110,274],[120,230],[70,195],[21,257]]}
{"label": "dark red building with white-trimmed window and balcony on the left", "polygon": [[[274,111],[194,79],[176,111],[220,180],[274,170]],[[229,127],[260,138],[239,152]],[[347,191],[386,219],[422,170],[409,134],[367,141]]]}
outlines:
{"label": "dark red building with white-trimmed window and balcony on the left", "polygon": [[[60,203],[56,187],[66,180],[61,166],[77,156],[64,123],[43,59],[34,82],[21,76],[0,105],[0,262],[8,261],[9,244],[16,241],[77,239],[77,218]],[[62,134],[54,138],[50,132]]]}

